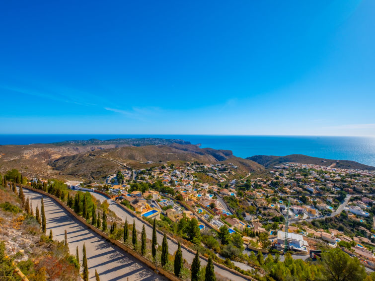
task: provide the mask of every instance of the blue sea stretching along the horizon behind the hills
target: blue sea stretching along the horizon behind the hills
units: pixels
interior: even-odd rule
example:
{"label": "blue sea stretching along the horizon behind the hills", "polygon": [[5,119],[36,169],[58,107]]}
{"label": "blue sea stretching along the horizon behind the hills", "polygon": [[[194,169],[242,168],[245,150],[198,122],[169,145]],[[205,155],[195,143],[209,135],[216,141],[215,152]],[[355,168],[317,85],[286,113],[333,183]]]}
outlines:
{"label": "blue sea stretching along the horizon behind the hills", "polygon": [[50,143],[70,140],[109,140],[116,138],[182,139],[201,147],[229,149],[242,158],[253,155],[304,154],[354,160],[375,166],[375,138],[316,136],[212,136],[212,135],[0,135],[0,144]]}

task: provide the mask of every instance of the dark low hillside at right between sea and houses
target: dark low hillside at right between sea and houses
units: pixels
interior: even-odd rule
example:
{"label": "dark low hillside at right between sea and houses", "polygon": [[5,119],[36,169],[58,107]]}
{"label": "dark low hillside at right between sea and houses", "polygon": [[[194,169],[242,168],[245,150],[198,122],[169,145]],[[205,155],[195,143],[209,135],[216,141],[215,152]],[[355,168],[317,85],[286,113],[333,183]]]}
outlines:
{"label": "dark low hillside at right between sea and houses", "polygon": [[336,168],[342,169],[361,169],[361,170],[375,170],[375,167],[361,164],[350,160],[332,160],[318,157],[311,157],[302,154],[291,154],[287,156],[273,156],[273,155],[254,155],[246,159],[257,162],[258,164],[269,168],[280,163],[295,162],[302,164],[315,164],[321,166],[334,165]]}

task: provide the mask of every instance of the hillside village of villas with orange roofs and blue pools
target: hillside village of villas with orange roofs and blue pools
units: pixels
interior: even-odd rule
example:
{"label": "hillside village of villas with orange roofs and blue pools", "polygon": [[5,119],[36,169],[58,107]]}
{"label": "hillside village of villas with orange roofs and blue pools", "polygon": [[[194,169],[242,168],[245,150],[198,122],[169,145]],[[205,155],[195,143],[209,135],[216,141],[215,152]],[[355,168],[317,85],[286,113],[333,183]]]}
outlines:
{"label": "hillside village of villas with orange roofs and blue pools", "polygon": [[162,164],[123,170],[104,185],[66,184],[105,191],[145,219],[178,223],[195,218],[203,235],[214,231],[220,236],[226,228],[242,238],[238,249],[243,254],[259,249],[281,253],[287,240],[286,250],[304,257],[341,247],[375,269],[374,171],[283,163],[273,166],[267,177],[232,179],[236,168],[230,162]]}

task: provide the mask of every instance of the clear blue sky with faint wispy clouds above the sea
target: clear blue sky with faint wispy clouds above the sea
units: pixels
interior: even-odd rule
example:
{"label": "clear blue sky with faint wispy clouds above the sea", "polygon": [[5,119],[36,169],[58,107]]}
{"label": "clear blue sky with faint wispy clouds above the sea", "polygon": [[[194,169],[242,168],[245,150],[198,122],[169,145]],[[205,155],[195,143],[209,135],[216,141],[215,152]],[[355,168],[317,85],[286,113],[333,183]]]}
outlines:
{"label": "clear blue sky with faint wispy clouds above the sea", "polygon": [[375,1],[3,1],[2,134],[375,136]]}

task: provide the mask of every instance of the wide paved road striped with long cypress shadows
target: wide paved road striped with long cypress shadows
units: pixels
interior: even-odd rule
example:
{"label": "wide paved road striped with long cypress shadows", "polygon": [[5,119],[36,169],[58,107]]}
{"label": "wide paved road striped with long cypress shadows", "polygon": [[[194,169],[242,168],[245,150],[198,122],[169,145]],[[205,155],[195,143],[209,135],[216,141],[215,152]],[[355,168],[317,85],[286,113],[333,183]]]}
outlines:
{"label": "wide paved road striped with long cypress shadows", "polygon": [[[49,197],[27,189],[23,189],[23,193],[26,198],[31,199],[34,213],[37,205],[40,210],[40,201],[43,197],[47,218],[47,235],[52,229],[54,239],[63,241],[66,229],[69,250],[71,254],[75,255],[75,249],[78,246],[80,259],[82,259],[83,243],[85,243],[90,281],[95,280],[95,269],[102,281],[120,281],[127,280],[127,278],[131,281],[167,280],[163,276],[153,273],[150,268],[133,256],[106,242]],[[80,264],[82,264],[82,260],[80,260]]]}

